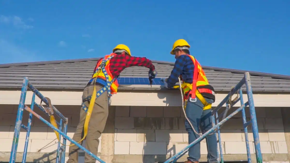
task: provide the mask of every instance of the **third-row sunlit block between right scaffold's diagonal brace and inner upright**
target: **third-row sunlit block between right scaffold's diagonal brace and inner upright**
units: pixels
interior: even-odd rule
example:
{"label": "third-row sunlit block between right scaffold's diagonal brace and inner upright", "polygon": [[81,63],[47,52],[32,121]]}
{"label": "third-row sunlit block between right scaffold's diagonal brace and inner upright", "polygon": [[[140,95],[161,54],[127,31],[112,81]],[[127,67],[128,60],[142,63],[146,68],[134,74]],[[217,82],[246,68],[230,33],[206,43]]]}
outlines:
{"label": "third-row sunlit block between right scaffold's diagonal brace and inner upright", "polygon": [[221,130],[220,137],[223,142],[240,142],[242,132],[241,130]]}

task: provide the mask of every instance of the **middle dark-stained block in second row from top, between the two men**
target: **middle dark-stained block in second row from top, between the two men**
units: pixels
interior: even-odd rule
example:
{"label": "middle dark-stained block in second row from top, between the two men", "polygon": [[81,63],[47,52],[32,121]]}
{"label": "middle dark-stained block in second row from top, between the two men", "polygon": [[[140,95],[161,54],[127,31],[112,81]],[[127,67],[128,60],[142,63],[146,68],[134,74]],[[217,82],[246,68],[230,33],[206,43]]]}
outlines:
{"label": "middle dark-stained block in second row from top, between the two men", "polygon": [[164,118],[134,117],[134,128],[155,130],[165,128]]}

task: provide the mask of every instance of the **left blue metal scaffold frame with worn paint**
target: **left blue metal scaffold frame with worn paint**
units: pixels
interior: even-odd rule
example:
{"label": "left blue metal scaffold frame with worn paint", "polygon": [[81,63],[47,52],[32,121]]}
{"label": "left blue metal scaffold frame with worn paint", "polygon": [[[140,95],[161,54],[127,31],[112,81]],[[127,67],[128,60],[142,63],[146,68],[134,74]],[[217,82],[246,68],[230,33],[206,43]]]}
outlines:
{"label": "left blue metal scaffold frame with worn paint", "polygon": [[[26,99],[26,93],[27,93],[27,88],[32,90],[33,95],[32,95],[32,102],[31,106],[28,107],[25,105],[25,99]],[[41,105],[35,103],[35,95],[41,99],[47,106],[50,106],[52,108],[52,111],[50,111],[50,108],[44,108]],[[57,125],[59,128],[56,128],[53,126],[50,122],[42,118],[40,115],[35,113],[33,111],[34,106],[37,106],[41,111],[46,113],[48,116],[50,116],[50,113],[54,113],[58,115],[60,118],[59,122],[57,122]],[[22,117],[23,117],[23,110],[26,110],[29,113],[29,119],[28,119],[28,124],[25,126],[22,124]],[[15,122],[15,129],[14,129],[14,137],[13,137],[13,142],[12,142],[12,148],[11,148],[11,153],[10,153],[10,160],[9,163],[15,163],[16,161],[16,154],[17,154],[17,146],[18,146],[18,140],[19,140],[19,134],[20,134],[20,129],[24,128],[27,133],[26,133],[26,141],[25,141],[25,146],[24,146],[24,152],[23,152],[23,157],[22,157],[22,163],[26,162],[26,155],[27,155],[27,148],[28,148],[28,140],[29,140],[29,134],[30,134],[30,128],[31,128],[31,121],[32,121],[32,115],[40,119],[42,122],[47,124],[49,127],[54,129],[55,131],[59,132],[59,137],[61,139],[61,136],[63,137],[62,144],[66,144],[66,140],[72,142],[75,144],[77,147],[79,147],[81,150],[84,152],[88,153],[90,156],[94,157],[96,160],[98,160],[101,163],[105,163],[103,160],[101,160],[99,157],[88,151],[86,148],[81,146],[81,144],[77,143],[76,141],[72,140],[70,137],[67,135],[67,129],[68,129],[68,118],[64,117],[57,108],[55,108],[53,105],[50,105],[50,102],[46,97],[44,97],[39,90],[37,90],[29,81],[28,77],[24,77],[23,79],[23,84],[22,84],[22,89],[21,89],[21,95],[20,95],[20,102],[18,106],[18,112],[17,112],[17,117],[16,117],[16,122]],[[65,151],[66,151],[66,146],[61,145],[60,142],[58,142],[57,145],[57,157],[56,157],[56,162],[57,163],[64,163],[65,162]]]}

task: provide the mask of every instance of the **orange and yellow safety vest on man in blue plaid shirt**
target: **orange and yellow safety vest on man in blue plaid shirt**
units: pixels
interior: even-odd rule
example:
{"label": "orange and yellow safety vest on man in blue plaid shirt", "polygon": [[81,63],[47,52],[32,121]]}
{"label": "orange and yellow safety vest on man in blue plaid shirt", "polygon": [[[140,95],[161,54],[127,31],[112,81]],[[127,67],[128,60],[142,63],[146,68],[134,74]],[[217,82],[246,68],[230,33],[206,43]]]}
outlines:
{"label": "orange and yellow safety vest on man in blue plaid shirt", "polygon": [[[213,99],[215,101],[215,92],[211,85],[209,85],[209,81],[206,78],[206,75],[202,69],[202,66],[199,64],[199,62],[192,56],[188,55],[194,64],[194,71],[193,71],[193,82],[191,83],[185,83],[182,80],[182,88],[184,93],[184,101],[186,101],[189,98],[189,95],[191,94],[191,99],[195,99],[196,97],[201,100],[201,102],[204,104],[204,110],[210,109],[211,104],[208,104],[204,97],[207,97],[209,99]],[[178,88],[179,86],[174,86],[174,88]]]}

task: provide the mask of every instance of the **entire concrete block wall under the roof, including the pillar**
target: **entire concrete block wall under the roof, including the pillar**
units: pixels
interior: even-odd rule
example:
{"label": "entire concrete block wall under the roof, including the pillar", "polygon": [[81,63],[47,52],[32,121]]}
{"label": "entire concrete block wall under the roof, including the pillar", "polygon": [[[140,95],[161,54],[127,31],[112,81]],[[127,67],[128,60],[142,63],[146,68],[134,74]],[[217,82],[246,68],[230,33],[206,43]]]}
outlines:
{"label": "entire concrete block wall under the roof, including the pillar", "polygon": [[[0,105],[0,153],[8,161],[14,134],[17,105]],[[68,136],[73,137],[79,122],[79,106],[56,106],[69,118]],[[155,106],[111,106],[113,113],[100,138],[99,153],[106,162],[157,162],[164,161],[188,144],[184,128],[184,114],[180,107]],[[288,111],[288,110],[287,110]],[[36,112],[45,117],[38,109]],[[287,114],[290,113],[289,111]],[[246,111],[249,120],[249,112]],[[256,108],[260,145],[266,162],[289,161],[290,145],[287,133],[284,133],[281,108]],[[286,113],[284,113],[286,114]],[[110,116],[113,116],[110,118]],[[222,151],[225,160],[246,160],[246,146],[242,127],[241,113],[235,115],[222,126]],[[28,122],[28,112],[24,111],[23,124]],[[251,126],[248,127],[251,131]],[[287,131],[288,132],[288,131]],[[288,134],[289,135],[289,134]],[[26,132],[21,131],[18,152],[23,152]],[[290,135],[289,135],[290,136]],[[253,160],[255,151],[253,136],[249,133]],[[69,142],[67,143],[67,145]],[[106,145],[107,144],[107,145]],[[239,148],[237,148],[237,146]],[[55,133],[46,124],[33,117],[28,159],[32,162],[55,161],[57,139]],[[66,149],[68,152],[68,147]],[[67,153],[68,154],[68,153]],[[201,161],[206,161],[206,143],[201,142]],[[3,156],[4,155],[4,156]],[[21,155],[20,155],[21,156]],[[21,160],[19,156],[19,159]],[[180,159],[183,161],[187,155]]]}

